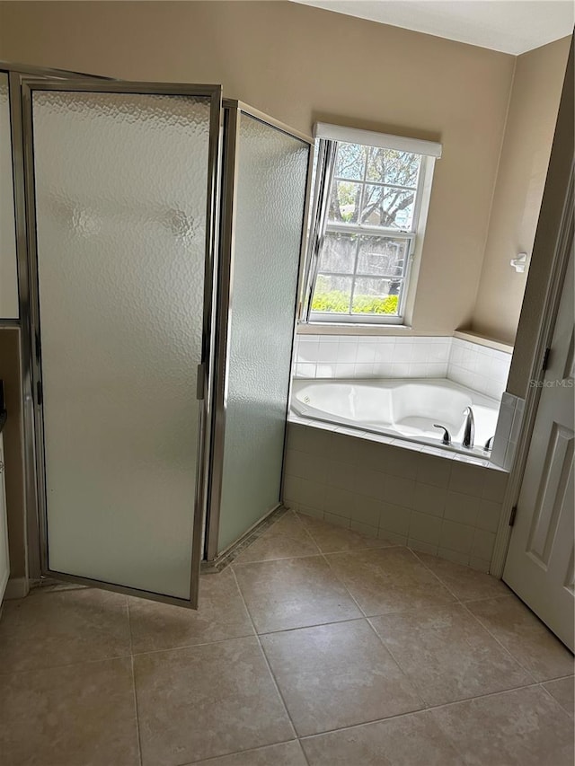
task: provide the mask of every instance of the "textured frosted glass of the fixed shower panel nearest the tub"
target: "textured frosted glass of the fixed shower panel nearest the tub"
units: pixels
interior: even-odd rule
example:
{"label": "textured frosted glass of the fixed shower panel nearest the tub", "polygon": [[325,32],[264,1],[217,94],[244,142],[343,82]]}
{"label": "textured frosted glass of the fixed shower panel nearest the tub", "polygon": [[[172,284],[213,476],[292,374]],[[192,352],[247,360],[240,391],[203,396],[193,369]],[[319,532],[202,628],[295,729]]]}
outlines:
{"label": "textured frosted glass of the fixed shower panel nearest the tub", "polygon": [[279,504],[310,151],[239,120],[220,551]]}

